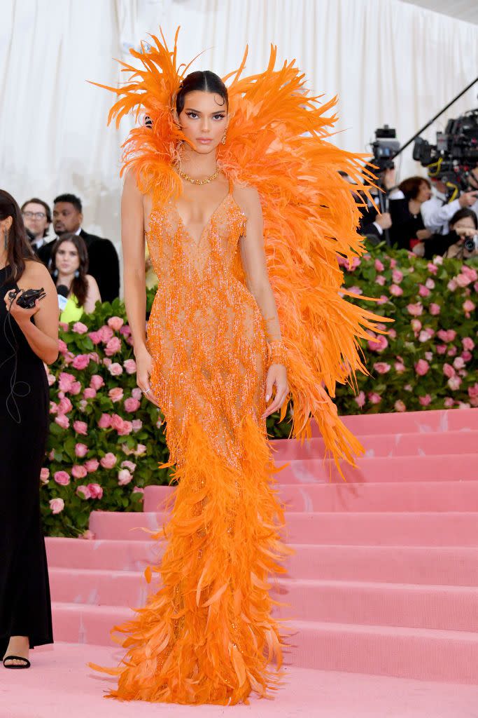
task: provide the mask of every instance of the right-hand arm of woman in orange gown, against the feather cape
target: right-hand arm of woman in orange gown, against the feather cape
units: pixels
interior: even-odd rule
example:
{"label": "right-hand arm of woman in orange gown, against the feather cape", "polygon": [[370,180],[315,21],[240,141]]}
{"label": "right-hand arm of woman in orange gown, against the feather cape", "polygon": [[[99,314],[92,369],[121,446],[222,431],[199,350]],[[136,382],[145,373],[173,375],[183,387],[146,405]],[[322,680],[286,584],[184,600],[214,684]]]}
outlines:
{"label": "right-hand arm of woman in orange gown, against the feather cape", "polygon": [[253,187],[242,187],[240,190],[238,188],[236,194],[247,216],[247,231],[239,242],[242,266],[249,292],[253,295],[262,317],[264,317],[267,341],[271,348],[271,365],[266,379],[266,401],[269,401],[272,396],[274,386],[275,397],[264,412],[263,418],[265,418],[282,406],[289,393],[284,363],[285,351],[282,346],[277,304],[267,274],[264,222],[259,195]]}

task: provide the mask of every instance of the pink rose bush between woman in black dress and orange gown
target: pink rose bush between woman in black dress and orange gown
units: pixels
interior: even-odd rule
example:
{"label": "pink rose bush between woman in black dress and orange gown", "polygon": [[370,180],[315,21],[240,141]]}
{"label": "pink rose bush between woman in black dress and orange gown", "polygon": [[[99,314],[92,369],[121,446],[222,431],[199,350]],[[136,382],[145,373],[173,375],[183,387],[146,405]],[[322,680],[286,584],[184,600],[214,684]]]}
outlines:
{"label": "pink rose bush between woman in black dress and orange gown", "polygon": [[[148,292],[148,309],[154,291]],[[125,308],[97,305],[81,322],[60,325],[60,355],[49,367],[50,432],[42,468],[41,505],[49,536],[91,538],[92,510],[142,510],[149,484],[171,480],[163,416],[136,385]],[[267,420],[284,437],[286,422]]]}

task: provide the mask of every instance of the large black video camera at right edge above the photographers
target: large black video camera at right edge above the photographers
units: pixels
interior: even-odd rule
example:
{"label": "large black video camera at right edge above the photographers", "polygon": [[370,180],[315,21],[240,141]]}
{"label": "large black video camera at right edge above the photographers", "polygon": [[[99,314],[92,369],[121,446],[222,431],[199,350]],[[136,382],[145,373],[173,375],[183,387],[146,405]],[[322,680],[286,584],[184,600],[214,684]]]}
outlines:
{"label": "large black video camera at right edge above the photographers", "polygon": [[414,159],[445,183],[450,199],[469,190],[469,173],[478,164],[478,109],[449,120],[445,131],[436,133],[436,144],[417,137]]}

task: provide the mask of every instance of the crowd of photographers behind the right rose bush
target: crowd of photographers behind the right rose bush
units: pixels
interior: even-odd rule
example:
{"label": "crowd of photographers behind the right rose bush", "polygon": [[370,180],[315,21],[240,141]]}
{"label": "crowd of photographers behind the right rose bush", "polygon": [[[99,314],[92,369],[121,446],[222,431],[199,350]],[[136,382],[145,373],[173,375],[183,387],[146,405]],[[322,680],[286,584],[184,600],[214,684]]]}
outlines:
{"label": "crowd of photographers behind the right rose bush", "polygon": [[452,201],[444,182],[433,177],[408,177],[397,185],[395,169],[385,169],[378,185],[373,202],[356,195],[363,236],[425,258],[478,256],[478,167],[469,174],[469,190]]}

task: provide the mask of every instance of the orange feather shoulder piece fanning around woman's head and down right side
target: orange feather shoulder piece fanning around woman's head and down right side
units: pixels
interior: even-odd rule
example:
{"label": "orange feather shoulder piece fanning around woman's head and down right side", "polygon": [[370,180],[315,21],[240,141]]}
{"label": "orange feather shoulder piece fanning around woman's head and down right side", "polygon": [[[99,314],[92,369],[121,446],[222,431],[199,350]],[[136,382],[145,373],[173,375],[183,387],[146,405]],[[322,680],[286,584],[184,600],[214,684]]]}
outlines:
{"label": "orange feather shoulder piece fanning around woman's head and down right side", "polygon": [[[187,141],[173,119],[173,106],[189,65],[177,66],[177,38],[173,50],[152,37],[142,52],[138,69],[122,63],[130,74],[120,88],[109,121],[117,124],[130,111],[149,118],[130,131],[125,142],[123,169],[133,169],[138,186],[153,197],[153,205],[181,192],[173,170],[178,143]],[[320,428],[328,452],[337,462],[353,463],[362,447],[338,417],[333,404],[337,383],[354,383],[357,371],[366,373],[360,340],[381,333],[375,321],[383,317],[356,307],[341,289],[339,258],[352,261],[365,251],[356,228],[359,208],[343,171],[355,182],[354,190],[368,190],[371,180],[363,155],[331,144],[336,121],[329,111],[336,98],[321,104],[305,90],[305,76],[295,61],[276,69],[277,48],[272,46],[263,73],[242,78],[242,65],[227,75],[230,121],[227,141],[218,162],[235,182],[254,186],[264,215],[264,246],[277,302],[282,336],[289,360],[293,401],[292,436],[310,435],[310,418]],[[105,85],[100,85],[105,87]],[[282,407],[282,417],[286,407]]]}

